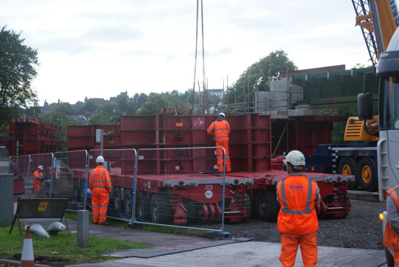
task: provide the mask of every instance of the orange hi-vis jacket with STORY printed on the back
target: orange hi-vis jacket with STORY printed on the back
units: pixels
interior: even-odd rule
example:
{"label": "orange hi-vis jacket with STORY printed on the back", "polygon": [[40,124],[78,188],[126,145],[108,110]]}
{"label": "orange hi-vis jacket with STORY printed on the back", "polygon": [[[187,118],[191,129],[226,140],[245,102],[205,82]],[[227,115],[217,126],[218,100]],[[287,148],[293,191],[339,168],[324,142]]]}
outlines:
{"label": "orange hi-vis jacket with STORY printed on the back", "polygon": [[319,227],[315,210],[316,182],[301,174],[289,175],[277,184],[280,212],[277,229],[285,236],[315,235]]}

